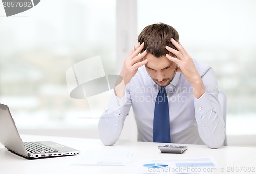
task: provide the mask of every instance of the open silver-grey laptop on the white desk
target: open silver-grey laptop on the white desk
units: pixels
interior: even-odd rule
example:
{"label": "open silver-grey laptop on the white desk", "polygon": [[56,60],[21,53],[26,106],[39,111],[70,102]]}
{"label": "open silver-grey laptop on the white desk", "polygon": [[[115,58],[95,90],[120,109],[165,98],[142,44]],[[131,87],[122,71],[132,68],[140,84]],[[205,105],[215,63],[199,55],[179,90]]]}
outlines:
{"label": "open silver-grey laptop on the white desk", "polygon": [[7,105],[0,104],[0,142],[11,152],[27,159],[76,155],[80,151],[52,142],[22,142]]}

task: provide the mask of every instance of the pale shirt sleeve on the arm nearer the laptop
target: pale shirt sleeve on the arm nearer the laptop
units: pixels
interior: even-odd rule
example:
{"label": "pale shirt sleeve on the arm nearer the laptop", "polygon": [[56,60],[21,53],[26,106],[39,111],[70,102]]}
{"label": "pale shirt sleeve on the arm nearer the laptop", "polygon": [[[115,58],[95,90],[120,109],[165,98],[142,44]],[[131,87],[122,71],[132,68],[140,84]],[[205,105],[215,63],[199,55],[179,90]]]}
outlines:
{"label": "pale shirt sleeve on the arm nearer the laptop", "polygon": [[114,93],[111,95],[98,123],[99,137],[104,145],[115,144],[121,135],[124,120],[129,112],[124,109],[126,101],[126,92],[121,99]]}

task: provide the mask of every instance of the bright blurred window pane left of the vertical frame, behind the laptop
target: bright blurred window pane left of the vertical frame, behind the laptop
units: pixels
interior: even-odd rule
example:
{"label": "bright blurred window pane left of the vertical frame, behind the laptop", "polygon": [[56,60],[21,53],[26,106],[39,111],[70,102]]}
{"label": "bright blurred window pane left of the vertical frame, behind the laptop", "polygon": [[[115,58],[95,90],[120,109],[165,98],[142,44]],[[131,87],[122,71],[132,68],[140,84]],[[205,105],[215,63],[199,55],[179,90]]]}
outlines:
{"label": "bright blurred window pane left of the vertical frame, behind the laptop", "polygon": [[[116,1],[41,1],[5,17],[0,7],[0,102],[20,129],[90,128],[97,119],[84,99],[69,97],[65,73],[100,55],[116,72]],[[90,117],[89,117],[90,118]]]}

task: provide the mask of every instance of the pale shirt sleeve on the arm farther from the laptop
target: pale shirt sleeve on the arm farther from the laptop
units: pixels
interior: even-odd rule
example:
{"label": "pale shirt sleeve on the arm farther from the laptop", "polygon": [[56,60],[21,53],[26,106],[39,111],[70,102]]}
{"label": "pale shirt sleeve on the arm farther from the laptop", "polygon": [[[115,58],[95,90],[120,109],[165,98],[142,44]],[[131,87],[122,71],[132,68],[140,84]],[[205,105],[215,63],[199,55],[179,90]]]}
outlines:
{"label": "pale shirt sleeve on the arm farther from the laptop", "polygon": [[205,93],[199,99],[194,97],[194,106],[200,138],[208,147],[218,148],[225,140],[226,126],[218,100],[217,81],[212,82],[215,79],[212,76],[215,74],[209,69],[202,77]]}

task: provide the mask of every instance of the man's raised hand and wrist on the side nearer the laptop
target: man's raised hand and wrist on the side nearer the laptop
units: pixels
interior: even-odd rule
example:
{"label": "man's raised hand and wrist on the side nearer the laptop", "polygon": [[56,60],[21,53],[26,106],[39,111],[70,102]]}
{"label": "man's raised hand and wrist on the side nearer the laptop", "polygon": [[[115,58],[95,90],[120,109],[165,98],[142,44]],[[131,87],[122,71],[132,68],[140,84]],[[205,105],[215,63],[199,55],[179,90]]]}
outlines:
{"label": "man's raised hand and wrist on the side nearer the laptop", "polygon": [[124,90],[126,84],[128,84],[133,76],[137,73],[138,68],[147,63],[147,59],[143,60],[143,57],[146,55],[146,50],[139,54],[144,47],[144,42],[142,44],[138,43],[130,51],[129,55],[125,58],[123,67],[120,72],[120,76],[123,78],[123,81],[115,87],[115,94],[118,98],[124,96]]}

